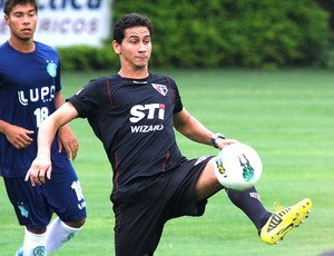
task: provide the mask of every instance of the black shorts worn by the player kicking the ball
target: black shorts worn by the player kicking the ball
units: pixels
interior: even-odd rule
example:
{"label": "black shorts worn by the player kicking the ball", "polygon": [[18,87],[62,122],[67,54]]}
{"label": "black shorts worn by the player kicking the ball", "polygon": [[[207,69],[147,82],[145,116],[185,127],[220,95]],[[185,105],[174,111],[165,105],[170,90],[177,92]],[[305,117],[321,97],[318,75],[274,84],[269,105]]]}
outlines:
{"label": "black shorts worn by the player kicking the ball", "polygon": [[187,160],[114,191],[116,255],[153,255],[166,221],[204,214],[207,199],[196,200],[195,186],[209,159]]}

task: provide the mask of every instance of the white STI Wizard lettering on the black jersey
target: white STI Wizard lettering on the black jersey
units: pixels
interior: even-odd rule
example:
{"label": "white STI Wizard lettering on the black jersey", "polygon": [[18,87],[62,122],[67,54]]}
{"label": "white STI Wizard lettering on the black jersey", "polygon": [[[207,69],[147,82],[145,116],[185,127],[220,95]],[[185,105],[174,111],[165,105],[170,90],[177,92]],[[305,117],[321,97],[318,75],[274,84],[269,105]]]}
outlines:
{"label": "white STI Wizard lettering on the black jersey", "polygon": [[[156,118],[165,119],[165,108],[164,104],[147,104],[147,105],[135,105],[130,109],[131,117],[130,122],[136,124],[143,119],[154,120]],[[144,125],[144,126],[131,126],[131,132],[151,132],[157,130],[163,130],[164,125]]]}

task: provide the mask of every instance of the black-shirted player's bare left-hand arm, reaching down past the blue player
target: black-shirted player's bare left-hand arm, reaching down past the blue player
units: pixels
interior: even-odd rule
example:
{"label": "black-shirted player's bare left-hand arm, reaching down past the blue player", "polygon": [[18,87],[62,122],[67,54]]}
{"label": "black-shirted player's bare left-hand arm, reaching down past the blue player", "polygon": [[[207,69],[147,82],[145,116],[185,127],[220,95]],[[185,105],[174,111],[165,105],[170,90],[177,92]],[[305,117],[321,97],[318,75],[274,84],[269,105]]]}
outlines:
{"label": "black-shirted player's bare left-hand arm, reaching down past the blue player", "polygon": [[77,116],[76,108],[70,102],[66,102],[43,121],[38,131],[37,157],[26,175],[26,181],[30,179],[31,185],[36,186],[46,183],[46,178],[51,179],[50,148],[56,131]]}

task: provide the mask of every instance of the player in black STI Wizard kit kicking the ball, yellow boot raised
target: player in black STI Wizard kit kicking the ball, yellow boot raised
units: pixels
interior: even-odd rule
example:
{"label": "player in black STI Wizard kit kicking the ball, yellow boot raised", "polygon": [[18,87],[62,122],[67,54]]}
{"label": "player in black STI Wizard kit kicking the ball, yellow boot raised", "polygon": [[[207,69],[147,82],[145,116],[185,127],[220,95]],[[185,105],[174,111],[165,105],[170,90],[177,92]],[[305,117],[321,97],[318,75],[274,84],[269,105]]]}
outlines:
{"label": "player in black STI Wizard kit kicking the ball, yellow boot raised", "polygon": [[[50,146],[56,131],[77,117],[87,118],[114,170],[110,199],[117,256],[154,255],[166,221],[202,216],[208,198],[224,189],[214,171],[215,157],[184,157],[174,128],[219,149],[236,142],[213,134],[184,108],[174,79],[148,71],[151,29],[151,21],[137,13],[118,20],[112,47],[119,72],[91,80],[42,124],[38,156],[26,176],[33,186],[47,183],[53,176]],[[282,239],[312,207],[306,198],[269,213],[254,187],[226,190],[267,244]]]}

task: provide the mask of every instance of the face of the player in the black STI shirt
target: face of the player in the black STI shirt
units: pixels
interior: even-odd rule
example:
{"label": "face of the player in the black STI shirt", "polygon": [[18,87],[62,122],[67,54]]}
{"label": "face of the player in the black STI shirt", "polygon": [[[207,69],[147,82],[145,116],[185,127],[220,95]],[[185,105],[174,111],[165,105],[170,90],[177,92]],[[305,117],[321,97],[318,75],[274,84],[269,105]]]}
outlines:
{"label": "face of the player in the black STI shirt", "polygon": [[149,30],[146,27],[126,29],[121,45],[114,43],[114,49],[119,55],[122,67],[147,68],[151,53]]}

